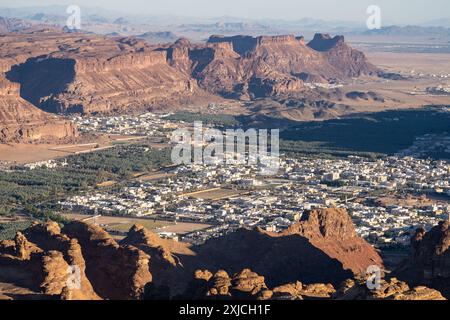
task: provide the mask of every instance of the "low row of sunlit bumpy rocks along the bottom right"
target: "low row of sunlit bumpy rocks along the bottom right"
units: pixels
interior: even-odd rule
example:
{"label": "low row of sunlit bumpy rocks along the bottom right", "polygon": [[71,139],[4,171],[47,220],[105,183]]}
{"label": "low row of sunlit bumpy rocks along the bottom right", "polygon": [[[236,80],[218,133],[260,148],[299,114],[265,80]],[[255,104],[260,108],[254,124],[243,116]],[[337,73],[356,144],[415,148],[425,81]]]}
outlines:
{"label": "low row of sunlit bumpy rocks along the bottom right", "polygon": [[300,281],[269,289],[264,277],[244,269],[229,276],[224,270],[212,274],[197,270],[186,297],[195,300],[445,300],[441,293],[427,287],[409,286],[395,278],[381,280],[369,289],[364,278],[348,279],[337,290],[331,284],[304,285]]}

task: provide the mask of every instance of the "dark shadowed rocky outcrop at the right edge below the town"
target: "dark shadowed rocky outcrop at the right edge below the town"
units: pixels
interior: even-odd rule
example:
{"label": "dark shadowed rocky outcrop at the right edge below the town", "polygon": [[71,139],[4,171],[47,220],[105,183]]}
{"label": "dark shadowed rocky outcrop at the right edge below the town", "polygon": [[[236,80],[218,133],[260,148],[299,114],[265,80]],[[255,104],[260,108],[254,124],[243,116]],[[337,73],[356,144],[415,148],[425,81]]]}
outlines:
{"label": "dark shadowed rocky outcrop at the right edge below the town", "polygon": [[411,238],[411,254],[394,274],[414,285],[427,285],[450,297],[450,230],[442,221],[430,231],[419,228]]}

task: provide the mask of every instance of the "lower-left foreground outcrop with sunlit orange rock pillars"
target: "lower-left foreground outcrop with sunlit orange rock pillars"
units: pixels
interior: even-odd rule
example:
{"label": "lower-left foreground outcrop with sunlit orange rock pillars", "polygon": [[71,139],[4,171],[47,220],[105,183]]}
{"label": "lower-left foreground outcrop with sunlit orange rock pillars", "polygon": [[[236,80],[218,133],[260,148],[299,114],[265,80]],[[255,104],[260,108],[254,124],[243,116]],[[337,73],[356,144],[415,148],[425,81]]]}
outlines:
{"label": "lower-left foreground outcrop with sunlit orange rock pillars", "polygon": [[0,274],[46,296],[139,299],[151,281],[149,256],[118,245],[103,229],[73,222],[36,224],[0,243]]}

